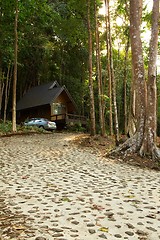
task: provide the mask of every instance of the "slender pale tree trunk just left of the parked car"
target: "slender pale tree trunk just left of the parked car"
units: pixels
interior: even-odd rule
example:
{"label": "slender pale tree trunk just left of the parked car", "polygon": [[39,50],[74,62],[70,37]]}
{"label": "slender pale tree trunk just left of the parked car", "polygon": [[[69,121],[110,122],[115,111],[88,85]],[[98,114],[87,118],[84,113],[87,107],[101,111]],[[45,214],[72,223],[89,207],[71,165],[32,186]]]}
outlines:
{"label": "slender pale tree trunk just left of the parked car", "polygon": [[17,53],[18,53],[18,0],[15,0],[15,43],[14,43],[14,77],[13,77],[13,98],[12,98],[12,131],[16,132],[16,86],[17,86]]}

